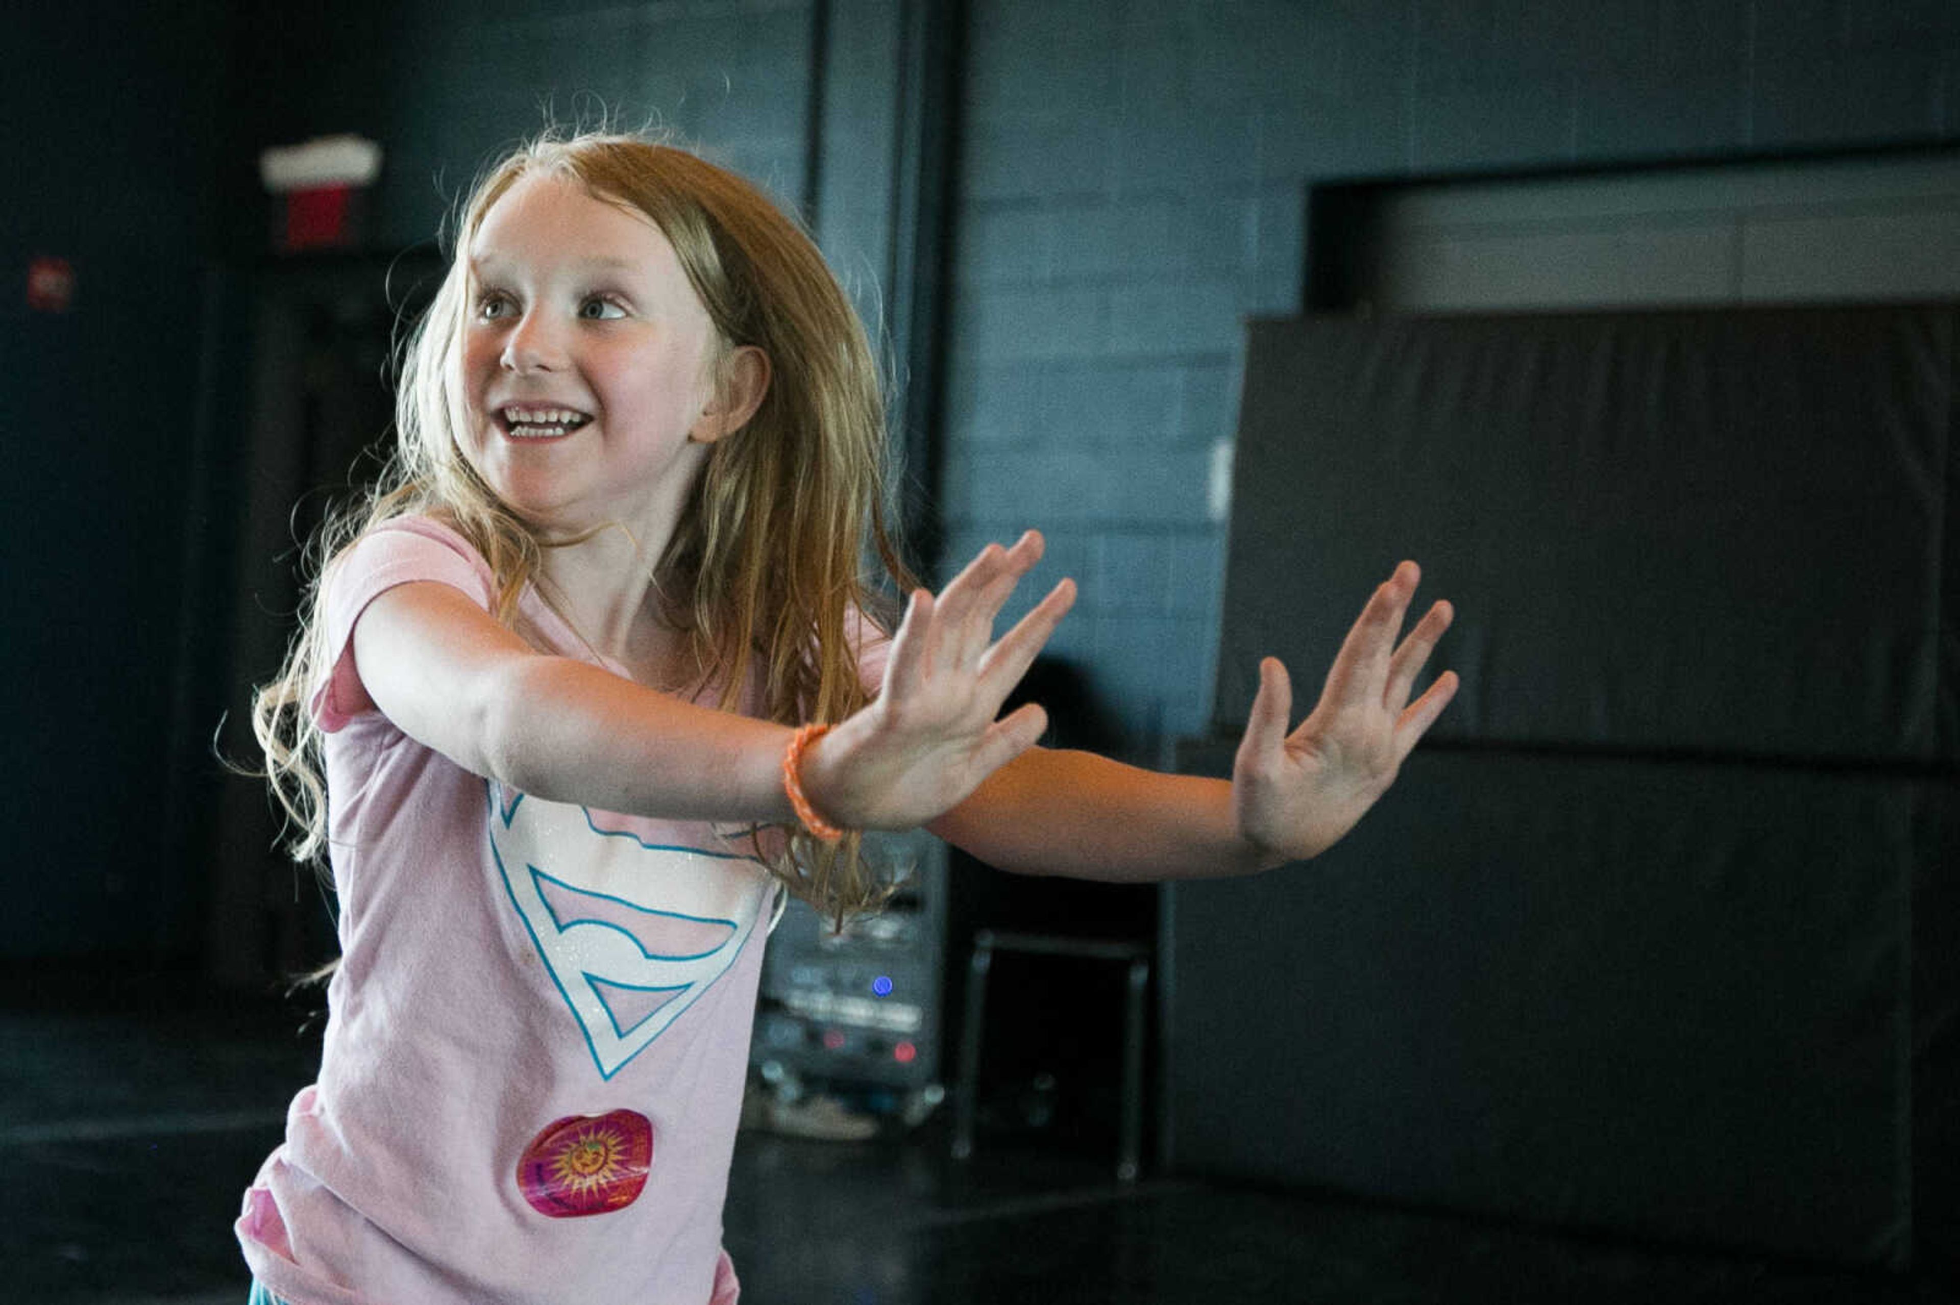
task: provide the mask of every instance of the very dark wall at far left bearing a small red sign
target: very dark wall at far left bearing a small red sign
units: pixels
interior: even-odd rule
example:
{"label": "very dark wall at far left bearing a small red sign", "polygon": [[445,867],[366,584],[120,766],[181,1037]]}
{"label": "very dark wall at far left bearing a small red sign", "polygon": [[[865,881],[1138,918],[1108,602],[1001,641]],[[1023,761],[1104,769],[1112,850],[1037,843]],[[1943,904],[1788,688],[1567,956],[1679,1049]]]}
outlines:
{"label": "very dark wall at far left bearing a small red sign", "polygon": [[[220,0],[6,6],[0,49],[0,956],[180,948],[200,337],[235,108]],[[67,314],[27,266],[67,259]]]}

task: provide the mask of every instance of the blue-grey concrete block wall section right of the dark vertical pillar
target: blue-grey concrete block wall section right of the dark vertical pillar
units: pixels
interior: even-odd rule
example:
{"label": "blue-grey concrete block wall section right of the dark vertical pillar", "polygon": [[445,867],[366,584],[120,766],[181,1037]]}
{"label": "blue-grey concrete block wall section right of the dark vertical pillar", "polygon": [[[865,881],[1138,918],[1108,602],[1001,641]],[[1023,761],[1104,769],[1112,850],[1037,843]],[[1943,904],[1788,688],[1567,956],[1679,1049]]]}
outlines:
{"label": "blue-grey concrete block wall section right of the dark vertical pillar", "polygon": [[[1213,447],[1241,321],[1299,308],[1309,184],[1960,135],[1946,0],[970,0],[968,24],[949,556],[1049,535],[1041,574],[1082,584],[1053,647],[1139,754],[1209,721]],[[1311,701],[1325,668],[1292,670]]]}

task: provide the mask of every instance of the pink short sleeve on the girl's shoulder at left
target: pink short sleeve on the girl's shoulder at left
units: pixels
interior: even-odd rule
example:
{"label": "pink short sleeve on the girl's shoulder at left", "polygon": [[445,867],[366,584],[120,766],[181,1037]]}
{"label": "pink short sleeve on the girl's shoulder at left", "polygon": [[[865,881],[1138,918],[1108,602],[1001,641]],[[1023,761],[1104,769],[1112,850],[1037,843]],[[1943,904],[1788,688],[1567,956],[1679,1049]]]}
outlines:
{"label": "pink short sleeve on the girl's shoulder at left", "polygon": [[427,517],[388,521],[349,545],[327,568],[321,619],[333,660],[310,705],[329,735],[374,709],[355,664],[355,623],[370,602],[419,580],[463,590],[484,611],[496,592],[490,564],[468,541]]}

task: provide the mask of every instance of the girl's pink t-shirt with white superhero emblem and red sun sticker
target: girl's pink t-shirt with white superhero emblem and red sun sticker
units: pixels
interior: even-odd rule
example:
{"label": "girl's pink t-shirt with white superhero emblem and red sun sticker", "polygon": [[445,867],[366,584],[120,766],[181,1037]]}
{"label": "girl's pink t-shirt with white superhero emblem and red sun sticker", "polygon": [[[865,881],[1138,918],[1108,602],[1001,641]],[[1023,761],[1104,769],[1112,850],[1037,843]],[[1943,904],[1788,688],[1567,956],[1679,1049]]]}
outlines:
{"label": "girl's pink t-shirt with white superhero emblem and red sun sticker", "polygon": [[[245,1258],[296,1305],[729,1305],[721,1203],[778,888],[741,833],[543,801],[396,729],[351,637],[414,580],[492,605],[484,560],[425,517],[327,576],[341,966],[319,1082],[245,1193]],[[535,590],[517,629],[623,674]]]}

